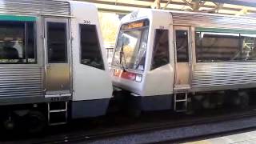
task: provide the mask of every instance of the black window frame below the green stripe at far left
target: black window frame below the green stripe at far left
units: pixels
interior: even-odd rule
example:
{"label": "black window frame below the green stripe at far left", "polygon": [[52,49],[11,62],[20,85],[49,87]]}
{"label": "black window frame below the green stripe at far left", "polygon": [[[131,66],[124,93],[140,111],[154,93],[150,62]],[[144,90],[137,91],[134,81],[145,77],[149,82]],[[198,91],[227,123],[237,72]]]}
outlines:
{"label": "black window frame below the green stripe at far left", "polygon": [[[26,62],[1,62],[0,64],[37,64],[38,63],[38,50],[37,50],[37,22],[35,21],[10,21],[10,20],[0,20],[0,26],[1,22],[22,22],[24,24],[24,47],[25,47],[25,53],[26,53]],[[33,36],[34,36],[34,62],[28,61],[28,54],[27,54],[27,44],[28,44],[28,36],[26,34],[29,34],[27,25],[28,23],[33,24]]]}

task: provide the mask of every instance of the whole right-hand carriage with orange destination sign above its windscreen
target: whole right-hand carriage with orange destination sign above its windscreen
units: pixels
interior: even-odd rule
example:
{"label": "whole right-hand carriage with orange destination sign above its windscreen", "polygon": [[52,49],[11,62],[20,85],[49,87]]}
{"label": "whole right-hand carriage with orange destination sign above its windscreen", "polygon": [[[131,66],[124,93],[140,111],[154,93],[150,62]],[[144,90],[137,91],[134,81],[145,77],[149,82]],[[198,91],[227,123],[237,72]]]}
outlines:
{"label": "whole right-hand carriage with orange destination sign above its windscreen", "polygon": [[122,18],[114,50],[115,91],[136,113],[184,111],[187,102],[247,106],[256,86],[255,28],[255,18],[134,11]]}

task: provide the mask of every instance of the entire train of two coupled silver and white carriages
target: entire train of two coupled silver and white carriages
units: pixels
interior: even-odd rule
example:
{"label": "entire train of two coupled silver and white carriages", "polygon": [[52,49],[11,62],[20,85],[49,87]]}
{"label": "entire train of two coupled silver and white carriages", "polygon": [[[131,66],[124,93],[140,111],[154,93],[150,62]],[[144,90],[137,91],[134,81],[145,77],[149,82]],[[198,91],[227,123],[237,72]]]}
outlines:
{"label": "entire train of two coupled silver and white carriages", "polygon": [[256,18],[136,10],[121,20],[110,66],[97,7],[0,3],[0,123],[37,133],[111,105],[185,112],[245,107],[256,87]]}

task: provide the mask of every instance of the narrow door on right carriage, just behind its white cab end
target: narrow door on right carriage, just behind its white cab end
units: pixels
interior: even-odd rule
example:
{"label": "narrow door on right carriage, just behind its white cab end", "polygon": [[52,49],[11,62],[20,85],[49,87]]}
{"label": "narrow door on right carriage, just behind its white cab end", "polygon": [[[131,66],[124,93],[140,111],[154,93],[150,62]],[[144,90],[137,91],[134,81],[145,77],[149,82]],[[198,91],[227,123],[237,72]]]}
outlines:
{"label": "narrow door on right carriage, just behind its white cab end", "polygon": [[175,80],[174,90],[190,89],[191,58],[190,28],[174,27]]}

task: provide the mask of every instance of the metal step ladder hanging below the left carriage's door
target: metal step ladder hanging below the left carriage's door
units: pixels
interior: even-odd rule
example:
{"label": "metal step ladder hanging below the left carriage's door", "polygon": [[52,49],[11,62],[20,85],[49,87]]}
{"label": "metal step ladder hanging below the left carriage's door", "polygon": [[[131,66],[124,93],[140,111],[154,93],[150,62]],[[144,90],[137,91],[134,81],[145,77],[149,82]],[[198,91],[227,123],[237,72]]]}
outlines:
{"label": "metal step ladder hanging below the left carriage's door", "polygon": [[48,125],[56,126],[67,122],[67,102],[48,103]]}

